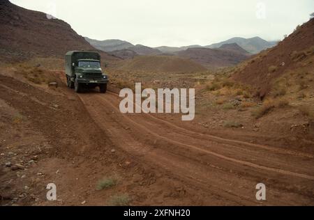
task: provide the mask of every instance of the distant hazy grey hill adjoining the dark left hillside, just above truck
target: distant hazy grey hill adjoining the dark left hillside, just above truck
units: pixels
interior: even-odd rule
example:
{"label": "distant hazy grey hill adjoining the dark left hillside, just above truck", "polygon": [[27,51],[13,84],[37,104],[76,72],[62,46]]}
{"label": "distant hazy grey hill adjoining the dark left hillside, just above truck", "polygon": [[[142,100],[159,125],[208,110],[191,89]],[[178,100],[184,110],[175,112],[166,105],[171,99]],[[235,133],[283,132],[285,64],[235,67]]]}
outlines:
{"label": "distant hazy grey hill adjoining the dark left hillside, just above truck", "polygon": [[103,52],[113,52],[120,49],[128,49],[128,47],[133,47],[134,45],[130,42],[124,40],[94,40],[85,37],[85,40],[89,42],[96,49],[100,49]]}

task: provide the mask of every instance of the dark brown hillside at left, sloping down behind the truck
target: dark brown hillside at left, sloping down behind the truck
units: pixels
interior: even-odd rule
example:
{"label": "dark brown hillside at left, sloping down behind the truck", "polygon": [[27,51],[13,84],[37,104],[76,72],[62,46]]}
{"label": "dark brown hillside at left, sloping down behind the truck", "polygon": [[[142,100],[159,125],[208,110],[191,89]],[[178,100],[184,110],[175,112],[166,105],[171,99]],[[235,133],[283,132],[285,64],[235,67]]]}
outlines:
{"label": "dark brown hillside at left, sloping down behind the truck", "polygon": [[[63,58],[70,50],[95,50],[61,19],[0,1],[0,59],[20,61],[34,56]],[[102,53],[106,60],[115,59]]]}

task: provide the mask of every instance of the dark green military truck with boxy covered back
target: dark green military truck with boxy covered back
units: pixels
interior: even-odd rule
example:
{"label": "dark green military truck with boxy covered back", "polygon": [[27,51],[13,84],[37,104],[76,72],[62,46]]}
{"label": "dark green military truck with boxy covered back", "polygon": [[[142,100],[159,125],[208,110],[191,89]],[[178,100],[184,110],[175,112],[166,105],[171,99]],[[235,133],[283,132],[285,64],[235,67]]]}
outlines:
{"label": "dark green military truck with boxy covered back", "polygon": [[70,51],[66,53],[66,81],[76,93],[83,88],[99,87],[100,93],[107,91],[108,77],[100,68],[97,52]]}

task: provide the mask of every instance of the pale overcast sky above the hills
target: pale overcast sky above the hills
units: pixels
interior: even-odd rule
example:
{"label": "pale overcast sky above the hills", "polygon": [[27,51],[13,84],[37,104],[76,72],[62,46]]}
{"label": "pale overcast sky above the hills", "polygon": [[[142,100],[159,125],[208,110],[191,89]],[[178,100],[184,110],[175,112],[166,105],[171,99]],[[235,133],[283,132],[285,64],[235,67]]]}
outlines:
{"label": "pale overcast sky above the hills", "polygon": [[232,37],[282,39],[313,0],[10,0],[54,15],[82,36],[150,47],[210,45]]}

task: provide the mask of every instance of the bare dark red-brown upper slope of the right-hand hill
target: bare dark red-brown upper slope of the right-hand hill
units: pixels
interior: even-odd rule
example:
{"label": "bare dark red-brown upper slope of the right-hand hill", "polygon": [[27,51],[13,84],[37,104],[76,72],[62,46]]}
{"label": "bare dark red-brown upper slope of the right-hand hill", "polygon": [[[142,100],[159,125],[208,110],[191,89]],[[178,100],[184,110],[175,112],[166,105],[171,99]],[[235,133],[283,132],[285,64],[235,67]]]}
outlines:
{"label": "bare dark red-brown upper slope of the right-hand hill", "polygon": [[[257,54],[233,78],[257,89],[264,97],[272,88],[274,79],[288,70],[298,68],[298,61],[314,54],[314,19],[301,26],[276,47]],[[308,54],[309,53],[309,54]],[[310,63],[311,64],[311,63]]]}

